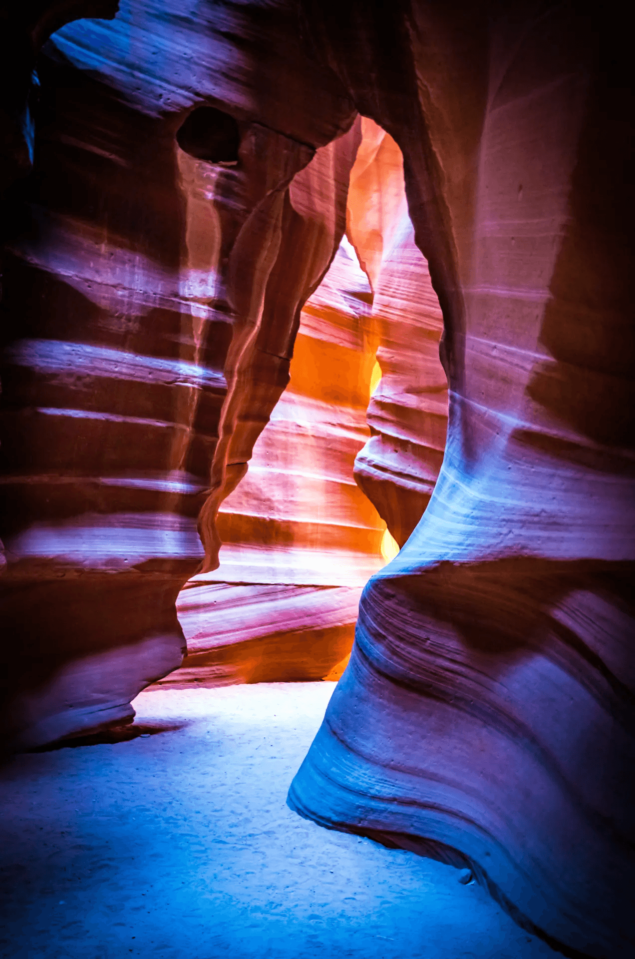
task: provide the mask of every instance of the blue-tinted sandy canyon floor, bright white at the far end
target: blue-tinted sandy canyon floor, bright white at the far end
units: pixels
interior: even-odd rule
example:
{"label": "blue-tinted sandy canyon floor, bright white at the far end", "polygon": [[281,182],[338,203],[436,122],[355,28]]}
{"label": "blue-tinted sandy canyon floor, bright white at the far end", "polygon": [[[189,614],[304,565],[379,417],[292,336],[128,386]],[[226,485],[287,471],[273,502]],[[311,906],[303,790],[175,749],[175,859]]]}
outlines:
{"label": "blue-tinted sandy canyon floor, bright white at the far end", "polygon": [[333,688],[146,692],[135,738],[13,759],[0,955],[554,956],[452,867],[286,807]]}

